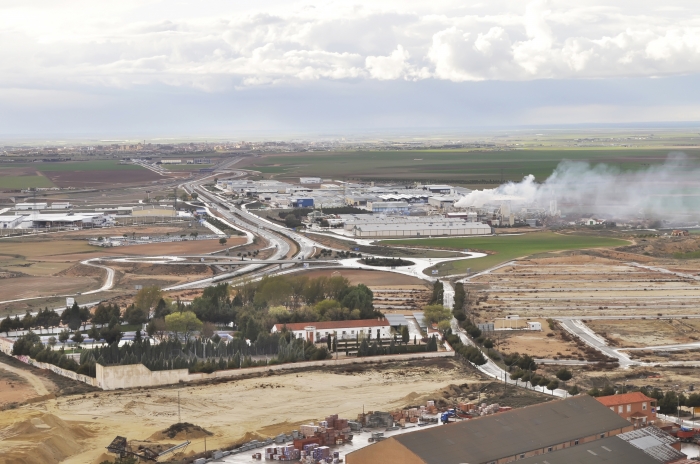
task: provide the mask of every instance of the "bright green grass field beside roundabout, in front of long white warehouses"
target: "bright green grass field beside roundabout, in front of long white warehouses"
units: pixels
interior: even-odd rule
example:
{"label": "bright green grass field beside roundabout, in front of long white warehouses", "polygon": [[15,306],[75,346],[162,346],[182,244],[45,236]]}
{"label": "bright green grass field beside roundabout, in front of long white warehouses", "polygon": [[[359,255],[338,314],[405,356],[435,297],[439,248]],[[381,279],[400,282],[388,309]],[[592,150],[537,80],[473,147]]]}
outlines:
{"label": "bright green grass field beside roundabout, in front of long white warehouses", "polygon": [[[440,275],[464,274],[467,268],[483,271],[515,258],[537,253],[584,248],[614,247],[628,245],[626,240],[591,237],[583,235],[555,234],[553,232],[533,232],[522,235],[499,235],[489,237],[431,238],[412,240],[382,241],[385,246],[420,246],[427,248],[448,248],[453,250],[479,251],[490,253],[483,258],[467,259],[443,263],[435,266]],[[430,273],[430,269],[426,271]]]}

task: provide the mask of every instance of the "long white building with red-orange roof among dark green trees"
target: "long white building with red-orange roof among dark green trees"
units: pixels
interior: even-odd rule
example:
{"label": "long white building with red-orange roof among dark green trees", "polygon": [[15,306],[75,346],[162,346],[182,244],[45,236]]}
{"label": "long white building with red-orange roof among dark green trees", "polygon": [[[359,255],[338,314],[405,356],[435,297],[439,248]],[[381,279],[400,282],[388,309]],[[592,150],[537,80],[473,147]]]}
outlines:
{"label": "long white building with red-orange roof among dark green trees", "polygon": [[303,338],[310,342],[316,342],[333,334],[336,334],[340,340],[354,339],[362,334],[372,338],[377,338],[377,336],[379,338],[389,338],[391,336],[391,326],[386,319],[275,324],[272,326],[271,332],[282,332],[285,327],[294,335],[294,338]]}

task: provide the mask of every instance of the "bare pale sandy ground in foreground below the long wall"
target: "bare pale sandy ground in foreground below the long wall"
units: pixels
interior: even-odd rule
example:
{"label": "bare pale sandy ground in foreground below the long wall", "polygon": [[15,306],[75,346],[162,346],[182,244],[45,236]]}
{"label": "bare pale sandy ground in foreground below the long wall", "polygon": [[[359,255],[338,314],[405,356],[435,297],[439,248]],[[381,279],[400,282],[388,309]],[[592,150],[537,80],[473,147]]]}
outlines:
{"label": "bare pale sandy ground in foreground below the long wall", "polygon": [[[181,422],[213,432],[207,438],[213,449],[289,432],[329,414],[354,419],[363,408],[391,410],[437,399],[450,384],[476,382],[461,364],[430,360],[59,397],[0,412],[0,463],[96,463],[116,435],[154,441],[178,422],[178,392]],[[58,446],[60,440],[65,444]],[[188,454],[204,450],[203,438],[192,442]]]}

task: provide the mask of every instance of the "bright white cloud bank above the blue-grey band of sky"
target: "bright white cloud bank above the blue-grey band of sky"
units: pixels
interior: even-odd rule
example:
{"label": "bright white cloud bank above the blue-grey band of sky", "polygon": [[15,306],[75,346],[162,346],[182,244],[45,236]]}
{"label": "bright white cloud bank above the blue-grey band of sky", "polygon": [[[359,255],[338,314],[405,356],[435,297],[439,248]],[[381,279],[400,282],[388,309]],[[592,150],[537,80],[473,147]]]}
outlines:
{"label": "bright white cloud bank above the blue-grey band of sky", "polygon": [[[99,3],[99,5],[98,5]],[[679,0],[27,0],[0,6],[0,86],[166,83],[215,91],[309,80],[454,82],[700,72]]]}

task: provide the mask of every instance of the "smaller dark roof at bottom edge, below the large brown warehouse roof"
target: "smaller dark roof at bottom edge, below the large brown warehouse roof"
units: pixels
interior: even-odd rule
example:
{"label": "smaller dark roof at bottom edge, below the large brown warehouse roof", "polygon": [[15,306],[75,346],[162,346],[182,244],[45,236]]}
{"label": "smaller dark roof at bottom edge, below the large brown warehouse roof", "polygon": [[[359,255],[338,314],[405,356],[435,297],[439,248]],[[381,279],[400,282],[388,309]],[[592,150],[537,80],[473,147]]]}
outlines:
{"label": "smaller dark roof at bottom edge, below the large brown warehouse roof", "polygon": [[659,464],[651,456],[617,437],[603,438],[518,460],[520,464],[594,464],[599,462],[605,464]]}

